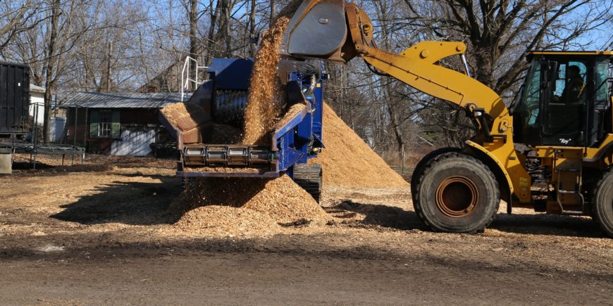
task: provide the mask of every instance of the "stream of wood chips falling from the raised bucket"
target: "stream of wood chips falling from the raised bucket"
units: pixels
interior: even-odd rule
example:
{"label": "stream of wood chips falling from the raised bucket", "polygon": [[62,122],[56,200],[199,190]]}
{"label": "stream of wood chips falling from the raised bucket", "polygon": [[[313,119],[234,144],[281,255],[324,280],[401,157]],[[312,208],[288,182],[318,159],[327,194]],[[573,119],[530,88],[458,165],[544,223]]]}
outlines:
{"label": "stream of wood chips falling from the raised bucket", "polygon": [[266,145],[266,137],[285,107],[281,98],[281,80],[277,72],[280,60],[279,47],[283,32],[287,28],[288,18],[279,18],[273,27],[262,35],[262,41],[255,57],[249,84],[249,98],[244,111],[244,136],[242,144]]}

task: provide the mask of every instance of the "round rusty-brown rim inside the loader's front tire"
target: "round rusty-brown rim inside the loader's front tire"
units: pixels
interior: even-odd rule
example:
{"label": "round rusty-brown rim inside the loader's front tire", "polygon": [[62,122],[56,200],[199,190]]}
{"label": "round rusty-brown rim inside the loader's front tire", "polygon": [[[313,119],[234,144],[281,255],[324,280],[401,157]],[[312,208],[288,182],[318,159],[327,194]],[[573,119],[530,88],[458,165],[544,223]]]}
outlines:
{"label": "round rusty-brown rim inside the loader's front tire", "polygon": [[477,186],[466,177],[448,177],[436,189],[436,205],[449,217],[469,215],[478,202]]}

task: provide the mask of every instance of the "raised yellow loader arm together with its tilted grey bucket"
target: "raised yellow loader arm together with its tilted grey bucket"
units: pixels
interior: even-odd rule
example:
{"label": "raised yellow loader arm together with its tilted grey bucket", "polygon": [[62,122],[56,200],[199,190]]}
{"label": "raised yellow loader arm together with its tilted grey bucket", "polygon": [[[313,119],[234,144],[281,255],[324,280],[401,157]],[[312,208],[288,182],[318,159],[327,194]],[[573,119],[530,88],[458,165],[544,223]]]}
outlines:
{"label": "raised yellow loader arm together with its tilted grey bucket", "polygon": [[[322,10],[318,10],[318,6],[328,8],[326,16],[319,13]],[[330,13],[330,8],[344,8],[346,32],[326,31],[326,28],[331,30],[330,27],[340,24],[338,18],[328,19],[328,15],[338,15]],[[295,28],[301,29],[300,34],[293,34]],[[326,34],[328,32],[330,34]],[[335,50],[326,47],[320,51],[318,42],[325,42],[322,43],[325,46],[342,47]],[[304,50],[316,52],[302,51],[299,47],[301,44],[305,45]],[[477,136],[473,141],[467,141],[467,146],[481,152],[500,168],[510,194],[515,194],[521,203],[531,202],[531,177],[516,154],[513,117],[502,98],[469,75],[438,65],[442,58],[464,54],[466,45],[463,42],[420,42],[401,53],[390,53],[377,48],[373,39],[373,24],[359,6],[343,4],[342,0],[307,0],[290,22],[285,46],[291,48],[282,50],[282,53],[298,58],[323,58],[347,63],[359,56],[376,70],[410,87],[464,108],[477,127]]]}

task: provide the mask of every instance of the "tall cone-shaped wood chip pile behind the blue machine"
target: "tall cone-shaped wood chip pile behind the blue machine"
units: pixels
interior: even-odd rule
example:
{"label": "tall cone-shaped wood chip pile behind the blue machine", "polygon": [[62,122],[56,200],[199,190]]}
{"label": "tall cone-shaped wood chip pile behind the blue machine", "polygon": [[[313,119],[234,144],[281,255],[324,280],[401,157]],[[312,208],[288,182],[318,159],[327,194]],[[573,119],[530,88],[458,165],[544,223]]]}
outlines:
{"label": "tall cone-shaped wood chip pile behind the blue machine", "polygon": [[323,144],[326,148],[309,163],[323,167],[323,186],[406,187],[402,179],[353,129],[324,103]]}

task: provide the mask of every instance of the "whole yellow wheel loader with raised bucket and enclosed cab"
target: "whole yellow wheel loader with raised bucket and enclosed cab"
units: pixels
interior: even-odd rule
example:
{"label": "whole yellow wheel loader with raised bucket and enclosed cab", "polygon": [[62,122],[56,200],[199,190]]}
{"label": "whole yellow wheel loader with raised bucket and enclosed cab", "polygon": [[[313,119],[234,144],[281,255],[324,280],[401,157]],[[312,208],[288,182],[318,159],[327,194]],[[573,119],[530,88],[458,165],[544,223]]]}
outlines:
{"label": "whole yellow wheel loader with raised bucket and enclosed cab", "polygon": [[[473,233],[512,207],[590,215],[613,236],[613,51],[530,53],[524,85],[509,109],[469,75],[462,42],[420,42],[395,54],[377,48],[357,5],[307,0],[285,32],[282,54],[347,63],[457,105],[474,122],[464,148],[426,155],[411,179],[414,207],[435,231]],[[438,65],[460,56],[464,72]]]}

